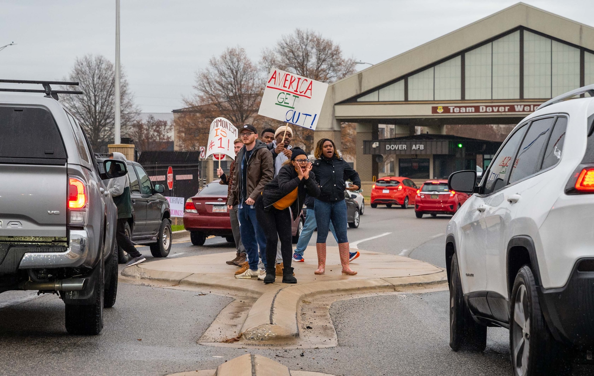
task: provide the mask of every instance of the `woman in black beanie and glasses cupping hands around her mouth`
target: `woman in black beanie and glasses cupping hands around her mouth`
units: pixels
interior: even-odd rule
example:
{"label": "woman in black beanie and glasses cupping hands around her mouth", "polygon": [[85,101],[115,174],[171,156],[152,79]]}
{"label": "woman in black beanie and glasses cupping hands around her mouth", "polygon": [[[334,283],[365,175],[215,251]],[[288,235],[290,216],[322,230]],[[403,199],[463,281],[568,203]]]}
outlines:
{"label": "woman in black beanie and glasses cupping hands around her mouth", "polygon": [[[293,148],[292,151],[290,162],[285,162],[286,165],[280,168],[279,175],[266,184],[255,204],[258,223],[266,235],[267,260],[276,258],[277,242],[280,239],[284,283],[297,283],[291,267],[292,223],[301,213],[306,192],[311,197],[318,197],[320,194],[307,154],[298,147]],[[276,269],[274,263],[271,263],[266,266],[264,283],[273,283],[274,280],[276,280]]]}

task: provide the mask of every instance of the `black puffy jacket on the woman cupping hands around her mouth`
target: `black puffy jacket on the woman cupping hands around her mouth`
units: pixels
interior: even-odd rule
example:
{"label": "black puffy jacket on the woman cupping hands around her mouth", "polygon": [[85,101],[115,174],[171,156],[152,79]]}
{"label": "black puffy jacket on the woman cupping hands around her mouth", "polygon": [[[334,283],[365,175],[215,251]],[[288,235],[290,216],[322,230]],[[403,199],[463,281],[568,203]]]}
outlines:
{"label": "black puffy jacket on the woman cupping hands around her mouth", "polygon": [[264,187],[262,192],[264,208],[272,206],[295,188],[297,188],[297,200],[291,204],[291,212],[293,213],[293,220],[297,219],[305,201],[305,194],[307,193],[311,197],[320,195],[320,187],[315,181],[315,174],[311,171],[309,172],[309,179],[299,179],[293,165],[282,166],[279,175]]}

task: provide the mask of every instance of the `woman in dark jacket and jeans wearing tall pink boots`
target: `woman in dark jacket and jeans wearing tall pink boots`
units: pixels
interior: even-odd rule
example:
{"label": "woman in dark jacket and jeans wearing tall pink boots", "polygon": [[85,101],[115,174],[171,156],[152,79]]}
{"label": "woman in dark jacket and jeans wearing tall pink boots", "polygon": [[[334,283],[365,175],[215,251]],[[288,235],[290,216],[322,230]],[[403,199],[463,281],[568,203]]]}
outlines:
{"label": "woman in dark jacket and jeans wearing tall pink boots", "polygon": [[[318,252],[318,269],[315,274],[326,271],[326,238],[330,221],[336,230],[342,274],[354,276],[357,274],[349,267],[349,241],[346,237],[346,202],[345,189],[356,191],[361,187],[359,174],[336,151],[334,142],[323,138],[315,146],[315,160],[312,171],[315,181],[320,185],[320,195],[315,199],[315,222],[318,225],[318,238],[315,249]],[[345,179],[353,184],[346,187]]]}

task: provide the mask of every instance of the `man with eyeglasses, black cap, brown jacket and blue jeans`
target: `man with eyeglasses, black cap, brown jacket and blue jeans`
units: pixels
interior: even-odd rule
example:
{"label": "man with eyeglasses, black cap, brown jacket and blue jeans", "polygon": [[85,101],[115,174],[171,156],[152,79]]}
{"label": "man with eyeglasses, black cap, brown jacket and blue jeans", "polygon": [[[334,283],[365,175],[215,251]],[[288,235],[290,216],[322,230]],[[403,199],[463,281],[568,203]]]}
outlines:
{"label": "man with eyeglasses, black cap, brown jacket and blue jeans", "polygon": [[232,210],[233,203],[239,202],[239,232],[248,255],[249,269],[235,277],[257,279],[264,274],[264,270],[258,270],[258,247],[265,268],[267,263],[266,236],[256,219],[255,200],[261,195],[264,186],[274,178],[274,165],[272,154],[268,152],[266,144],[258,140],[258,131],[253,125],[245,124],[239,128],[239,137],[244,146],[235,157],[236,168],[227,207]]}

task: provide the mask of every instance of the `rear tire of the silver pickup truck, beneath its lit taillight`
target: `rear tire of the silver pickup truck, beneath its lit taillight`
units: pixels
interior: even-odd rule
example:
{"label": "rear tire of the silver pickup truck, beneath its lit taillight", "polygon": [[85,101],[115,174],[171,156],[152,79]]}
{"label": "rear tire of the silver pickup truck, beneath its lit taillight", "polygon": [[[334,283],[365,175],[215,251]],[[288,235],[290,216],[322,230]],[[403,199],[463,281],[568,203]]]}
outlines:
{"label": "rear tire of the silver pickup truck, beneath its lit taillight", "polygon": [[95,285],[93,304],[66,304],[66,330],[70,334],[96,335],[103,329],[103,261],[99,261],[99,277]]}

